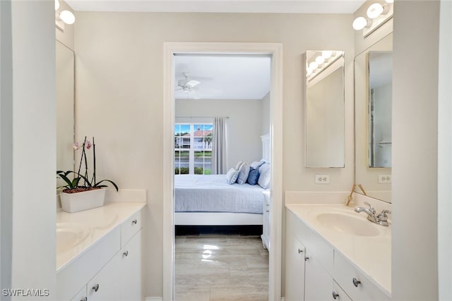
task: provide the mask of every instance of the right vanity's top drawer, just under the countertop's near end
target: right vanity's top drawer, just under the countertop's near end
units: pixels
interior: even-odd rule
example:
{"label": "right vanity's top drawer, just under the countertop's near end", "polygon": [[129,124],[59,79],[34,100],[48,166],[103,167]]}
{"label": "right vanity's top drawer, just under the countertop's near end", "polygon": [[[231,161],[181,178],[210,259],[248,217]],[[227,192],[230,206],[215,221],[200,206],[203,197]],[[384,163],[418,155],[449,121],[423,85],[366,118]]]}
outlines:
{"label": "right vanity's top drawer, just under the countertop's near end", "polygon": [[391,300],[368,276],[352,266],[339,252],[334,252],[333,277],[354,301]]}

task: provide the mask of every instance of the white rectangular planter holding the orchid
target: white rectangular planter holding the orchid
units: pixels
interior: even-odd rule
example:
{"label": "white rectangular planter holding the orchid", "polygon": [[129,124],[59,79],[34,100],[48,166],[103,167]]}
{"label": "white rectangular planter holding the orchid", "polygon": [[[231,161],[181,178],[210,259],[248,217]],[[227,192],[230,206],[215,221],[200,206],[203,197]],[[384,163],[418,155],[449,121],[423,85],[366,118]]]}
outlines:
{"label": "white rectangular planter holding the orchid", "polygon": [[95,207],[102,207],[105,201],[105,189],[88,190],[77,193],[60,193],[61,208],[73,213]]}

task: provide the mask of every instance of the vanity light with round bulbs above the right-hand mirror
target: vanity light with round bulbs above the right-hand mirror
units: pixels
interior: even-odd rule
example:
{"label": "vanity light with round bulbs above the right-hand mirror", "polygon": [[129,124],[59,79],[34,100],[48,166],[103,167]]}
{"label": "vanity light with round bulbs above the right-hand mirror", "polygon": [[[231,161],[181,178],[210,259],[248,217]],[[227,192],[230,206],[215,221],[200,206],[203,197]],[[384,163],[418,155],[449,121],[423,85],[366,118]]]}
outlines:
{"label": "vanity light with round bulbs above the right-hand mirror", "polygon": [[363,37],[370,35],[393,17],[393,2],[394,0],[385,0],[371,4],[367,8],[367,18],[362,16],[355,18],[352,24],[353,29],[362,30]]}

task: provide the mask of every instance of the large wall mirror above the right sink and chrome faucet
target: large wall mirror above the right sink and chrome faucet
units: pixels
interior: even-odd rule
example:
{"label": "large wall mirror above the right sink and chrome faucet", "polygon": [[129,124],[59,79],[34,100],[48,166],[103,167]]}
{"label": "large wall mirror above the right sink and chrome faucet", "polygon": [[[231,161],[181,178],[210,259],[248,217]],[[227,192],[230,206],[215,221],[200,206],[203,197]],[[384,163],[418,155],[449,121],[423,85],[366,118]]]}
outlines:
{"label": "large wall mirror above the right sink and chrome faucet", "polygon": [[391,202],[392,34],[355,57],[355,183]]}

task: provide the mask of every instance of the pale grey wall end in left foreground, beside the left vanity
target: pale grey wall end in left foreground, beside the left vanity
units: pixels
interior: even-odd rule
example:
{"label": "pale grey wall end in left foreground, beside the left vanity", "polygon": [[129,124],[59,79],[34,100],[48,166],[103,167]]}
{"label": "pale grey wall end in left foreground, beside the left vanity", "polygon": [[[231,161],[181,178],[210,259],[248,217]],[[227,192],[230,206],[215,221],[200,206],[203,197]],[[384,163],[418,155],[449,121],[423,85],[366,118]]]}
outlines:
{"label": "pale grey wall end in left foreground, beside the left vanity", "polygon": [[[2,15],[3,8],[2,4]],[[10,140],[13,144],[12,168],[8,167],[12,171],[8,175],[4,174],[6,158],[3,145],[1,148],[2,186],[6,176],[12,180],[8,182],[12,188],[9,195],[12,229],[8,229],[12,232],[11,287],[49,289],[52,295],[56,222],[54,2],[13,1],[11,34],[12,98],[11,95],[4,98],[3,94],[1,97],[1,141]],[[2,42],[3,35],[2,27]],[[1,47],[3,50],[4,45]],[[6,72],[11,73],[11,69]],[[12,111],[11,115],[4,116],[5,107],[9,113]],[[12,128],[3,128],[4,118]],[[6,155],[11,156],[11,153]],[[11,202],[5,197],[8,195],[1,197],[2,206],[4,202]],[[9,248],[2,244],[4,247]],[[30,300],[30,297],[13,300]]]}

